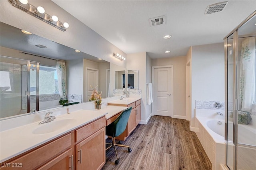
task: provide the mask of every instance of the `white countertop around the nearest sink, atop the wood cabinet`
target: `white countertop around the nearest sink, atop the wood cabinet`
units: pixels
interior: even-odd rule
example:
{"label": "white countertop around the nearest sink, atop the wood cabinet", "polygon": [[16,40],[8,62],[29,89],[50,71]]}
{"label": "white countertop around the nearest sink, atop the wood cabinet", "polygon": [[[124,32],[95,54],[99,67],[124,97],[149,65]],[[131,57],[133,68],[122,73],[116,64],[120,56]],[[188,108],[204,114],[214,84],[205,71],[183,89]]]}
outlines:
{"label": "white countertop around the nearest sink, atop the wood cabinet", "polygon": [[[98,110],[77,110],[70,114],[56,116],[52,122],[38,124],[34,122],[10,130],[0,132],[0,162],[4,162],[14,156],[22,154],[32,148],[40,146],[62,134],[70,132],[80,126],[88,124],[108,113],[107,109]],[[50,133],[34,134],[33,131],[43,126],[52,126],[58,124],[64,119],[68,119],[68,123],[63,126],[58,126],[58,130],[53,130]]]}

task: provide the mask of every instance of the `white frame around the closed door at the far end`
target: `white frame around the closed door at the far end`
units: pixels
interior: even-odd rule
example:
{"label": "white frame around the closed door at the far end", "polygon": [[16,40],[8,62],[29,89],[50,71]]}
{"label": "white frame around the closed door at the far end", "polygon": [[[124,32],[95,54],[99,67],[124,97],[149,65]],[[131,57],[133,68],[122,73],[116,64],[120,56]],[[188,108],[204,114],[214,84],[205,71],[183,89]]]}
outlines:
{"label": "white frame around the closed door at the far end", "polygon": [[[171,68],[171,70],[172,70],[172,73],[171,73],[171,84],[172,84],[172,88],[171,88],[171,101],[172,101],[172,118],[173,118],[173,116],[174,116],[174,77],[173,77],[173,70],[174,70],[174,66],[173,65],[166,65],[166,66],[152,66],[152,85],[153,85],[153,87],[154,87],[154,71],[155,71],[155,69],[157,69],[157,68],[168,68],[168,67],[170,67]],[[153,88],[153,101],[156,101],[156,99],[155,99],[155,96],[154,96],[154,88]],[[154,115],[154,105],[156,104],[156,102],[153,102],[152,103],[152,116]]]}

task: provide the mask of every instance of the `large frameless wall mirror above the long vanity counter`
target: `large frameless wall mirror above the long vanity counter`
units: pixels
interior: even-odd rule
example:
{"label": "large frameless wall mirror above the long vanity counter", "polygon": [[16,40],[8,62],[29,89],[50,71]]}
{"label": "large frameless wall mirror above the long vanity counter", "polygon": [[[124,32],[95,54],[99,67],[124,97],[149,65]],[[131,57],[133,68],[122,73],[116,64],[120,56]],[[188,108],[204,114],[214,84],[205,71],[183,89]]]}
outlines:
{"label": "large frameless wall mirror above the long vanity counter", "polygon": [[111,85],[110,80],[114,78],[111,78],[109,62],[34,34],[24,34],[3,22],[0,22],[0,48],[0,118],[32,109],[62,107],[57,61],[66,64],[66,98],[70,102],[87,102],[95,87],[102,91],[102,98],[112,96],[114,82]]}

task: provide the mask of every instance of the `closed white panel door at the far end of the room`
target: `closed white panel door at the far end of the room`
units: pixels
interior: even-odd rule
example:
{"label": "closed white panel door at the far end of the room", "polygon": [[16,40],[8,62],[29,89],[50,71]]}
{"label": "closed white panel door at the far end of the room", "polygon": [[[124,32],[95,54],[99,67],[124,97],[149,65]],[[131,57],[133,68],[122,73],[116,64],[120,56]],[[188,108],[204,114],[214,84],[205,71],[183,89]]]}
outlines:
{"label": "closed white panel door at the far end of the room", "polygon": [[173,116],[173,66],[154,69],[154,114]]}

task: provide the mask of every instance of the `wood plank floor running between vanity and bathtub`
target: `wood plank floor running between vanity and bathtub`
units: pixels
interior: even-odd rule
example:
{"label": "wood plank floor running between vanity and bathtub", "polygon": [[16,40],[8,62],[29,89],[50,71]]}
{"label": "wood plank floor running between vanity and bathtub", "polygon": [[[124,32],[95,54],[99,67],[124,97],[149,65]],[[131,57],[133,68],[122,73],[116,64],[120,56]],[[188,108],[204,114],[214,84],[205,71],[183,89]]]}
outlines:
{"label": "wood plank floor running between vanity and bathtub", "polygon": [[110,148],[102,170],[212,170],[186,120],[152,116],[147,125],[139,124],[122,144],[129,145],[132,152],[117,147],[120,160],[115,165],[115,152]]}

